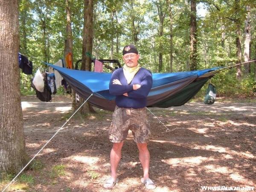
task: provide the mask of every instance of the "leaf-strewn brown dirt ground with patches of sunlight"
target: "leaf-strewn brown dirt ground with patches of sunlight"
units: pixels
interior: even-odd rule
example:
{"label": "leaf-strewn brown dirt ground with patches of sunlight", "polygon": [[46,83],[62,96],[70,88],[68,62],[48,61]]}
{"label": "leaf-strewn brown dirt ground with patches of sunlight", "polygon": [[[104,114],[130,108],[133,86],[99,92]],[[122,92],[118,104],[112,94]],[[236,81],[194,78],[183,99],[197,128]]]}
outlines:
{"label": "leaf-strewn brown dirt ground with patches of sunlight", "polygon": [[[23,97],[26,148],[30,157],[71,116],[71,100],[55,96],[40,102]],[[152,138],[150,177],[153,192],[203,191],[201,186],[256,187],[256,103],[187,103],[181,107],[150,108],[173,131],[148,112]],[[102,187],[110,175],[108,128],[112,112],[97,110],[83,118],[74,116],[36,157],[40,170],[28,170],[33,192],[143,192],[143,170],[130,134],[122,150],[119,183],[112,190]],[[51,177],[53,166],[64,173]],[[254,189],[256,190],[256,189]]]}

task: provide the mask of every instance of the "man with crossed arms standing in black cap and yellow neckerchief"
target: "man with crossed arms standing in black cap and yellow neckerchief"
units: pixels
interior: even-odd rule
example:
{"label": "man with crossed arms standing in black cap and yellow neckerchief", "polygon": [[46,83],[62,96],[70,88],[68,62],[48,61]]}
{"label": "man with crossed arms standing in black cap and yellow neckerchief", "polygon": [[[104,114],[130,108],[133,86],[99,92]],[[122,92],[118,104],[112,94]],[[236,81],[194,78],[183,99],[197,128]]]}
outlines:
{"label": "man with crossed arms standing in black cap and yellow neckerchief", "polygon": [[116,108],[108,132],[113,147],[110,153],[111,178],[104,184],[107,189],[111,189],[118,182],[116,169],[129,129],[139,149],[139,159],[143,167],[141,182],[147,189],[156,187],[148,175],[150,156],[147,141],[150,130],[145,108],[146,98],[152,87],[152,74],[149,70],[140,67],[139,58],[140,55],[134,45],[125,46],[123,49],[125,65],[113,72],[109,84],[110,94],[116,96]]}

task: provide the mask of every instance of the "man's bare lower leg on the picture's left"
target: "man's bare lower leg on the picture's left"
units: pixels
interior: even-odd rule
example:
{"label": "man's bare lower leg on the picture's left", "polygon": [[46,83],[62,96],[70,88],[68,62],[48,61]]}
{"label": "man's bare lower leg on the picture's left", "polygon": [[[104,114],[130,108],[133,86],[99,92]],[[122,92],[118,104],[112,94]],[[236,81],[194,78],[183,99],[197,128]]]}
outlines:
{"label": "man's bare lower leg on the picture's left", "polygon": [[110,164],[111,164],[111,177],[116,180],[116,169],[121,159],[121,150],[124,143],[113,143],[110,152]]}

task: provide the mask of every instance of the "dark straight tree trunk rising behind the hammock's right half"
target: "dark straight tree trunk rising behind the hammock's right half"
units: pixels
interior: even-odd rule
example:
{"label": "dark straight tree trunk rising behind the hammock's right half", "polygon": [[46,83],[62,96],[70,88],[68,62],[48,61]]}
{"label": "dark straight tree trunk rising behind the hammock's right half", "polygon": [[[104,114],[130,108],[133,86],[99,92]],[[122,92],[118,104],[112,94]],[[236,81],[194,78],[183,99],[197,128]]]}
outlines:
{"label": "dark straight tree trunk rising behind the hammock's right half", "polygon": [[190,70],[197,70],[196,0],[190,4]]}

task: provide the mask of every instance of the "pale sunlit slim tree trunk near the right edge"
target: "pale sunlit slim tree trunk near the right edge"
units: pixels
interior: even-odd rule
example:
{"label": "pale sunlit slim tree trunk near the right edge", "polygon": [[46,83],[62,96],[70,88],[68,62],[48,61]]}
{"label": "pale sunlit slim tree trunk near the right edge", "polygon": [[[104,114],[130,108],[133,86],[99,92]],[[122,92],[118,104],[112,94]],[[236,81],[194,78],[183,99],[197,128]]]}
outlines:
{"label": "pale sunlit slim tree trunk near the right edge", "polygon": [[[250,6],[246,6],[247,18],[245,20],[245,29],[244,29],[244,62],[250,60]],[[249,74],[250,64],[244,64],[246,75]]]}

